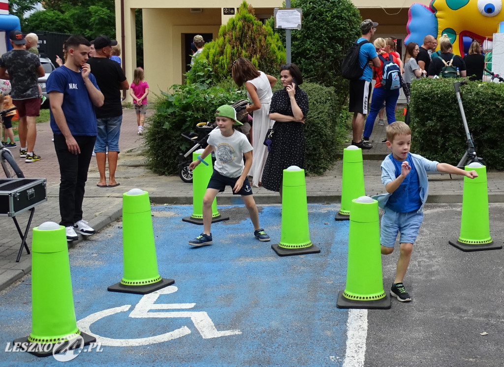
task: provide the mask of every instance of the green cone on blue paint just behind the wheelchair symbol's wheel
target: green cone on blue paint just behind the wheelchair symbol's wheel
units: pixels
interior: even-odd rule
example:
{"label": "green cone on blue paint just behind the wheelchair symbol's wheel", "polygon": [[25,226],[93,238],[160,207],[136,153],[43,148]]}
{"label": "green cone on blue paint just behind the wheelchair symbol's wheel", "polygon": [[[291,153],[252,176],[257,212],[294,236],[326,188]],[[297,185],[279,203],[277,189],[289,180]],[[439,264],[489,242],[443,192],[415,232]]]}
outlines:
{"label": "green cone on blue paint just behind the wheelchair symbol's wheel", "polygon": [[149,193],[141,189],[122,194],[122,269],[109,291],[145,295],[175,282],[159,275]]}

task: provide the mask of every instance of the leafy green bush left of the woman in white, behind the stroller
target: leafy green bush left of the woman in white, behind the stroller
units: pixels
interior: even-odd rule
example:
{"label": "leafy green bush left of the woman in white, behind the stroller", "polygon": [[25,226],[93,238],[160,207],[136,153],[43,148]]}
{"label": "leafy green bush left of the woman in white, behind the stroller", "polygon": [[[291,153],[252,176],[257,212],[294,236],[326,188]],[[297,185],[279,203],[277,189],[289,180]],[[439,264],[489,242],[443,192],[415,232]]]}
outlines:
{"label": "leafy green bush left of the woman in white, behind the stroller", "polygon": [[144,134],[148,166],[162,175],[178,173],[178,155],[194,145],[181,132],[195,131],[199,122],[214,121],[217,107],[245,97],[241,91],[199,83],[174,85],[170,90],[171,94],[162,93],[156,101],[156,112]]}

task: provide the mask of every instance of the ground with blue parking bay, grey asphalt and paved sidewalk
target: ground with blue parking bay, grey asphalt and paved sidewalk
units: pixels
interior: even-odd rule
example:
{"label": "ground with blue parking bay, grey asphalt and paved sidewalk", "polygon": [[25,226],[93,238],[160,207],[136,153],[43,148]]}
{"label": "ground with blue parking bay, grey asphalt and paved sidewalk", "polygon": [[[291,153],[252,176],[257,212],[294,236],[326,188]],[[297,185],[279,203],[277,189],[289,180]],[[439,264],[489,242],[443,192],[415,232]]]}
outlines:
{"label": "ground with blue parking bay, grey asphalt and paved sidewalk", "polygon": [[[26,177],[47,179],[48,200],[36,207],[31,228],[59,222],[59,170],[49,124],[37,124],[37,130],[35,152],[42,160],[25,164],[16,157]],[[159,302],[168,302],[161,299],[175,295],[169,303],[201,304],[204,307],[195,310],[205,310],[217,330],[240,330],[241,334],[205,339],[195,325],[178,320],[166,328],[156,320],[154,324],[133,320],[130,326],[117,327],[124,320],[132,321],[123,310],[107,316],[112,321],[101,326],[96,322],[90,330],[111,339],[145,338],[183,326],[192,333],[143,347],[106,346],[101,359],[87,353],[74,363],[87,359],[100,365],[502,365],[502,251],[464,253],[448,245],[460,230],[461,177],[429,176],[425,220],[405,279],[413,302],[405,305],[392,300],[391,310],[349,312],[335,308],[337,292],[345,285],[348,238],[348,222],[334,221],[341,200],[341,161],[322,176],[306,176],[310,235],[320,245],[321,254],[276,257],[268,243],[259,243],[245,230],[251,227],[246,209],[237,206],[240,200],[229,190],[217,196],[219,207],[233,214],[228,223],[214,226],[222,243],[194,251],[186,242],[201,227],[178,223],[180,215],[192,211],[192,185],[178,176],[158,176],[147,170],[143,137],[136,131],[134,110],[124,110],[116,172],[120,186],[96,187],[99,175],[92,160],[84,219],[99,232],[69,244],[77,320],[124,305],[133,309],[141,299],[119,293],[112,297],[106,291],[121,274],[122,194],[137,187],[148,191],[157,205],[153,218],[160,273],[175,279],[176,289],[169,288],[170,296],[163,293]],[[380,163],[388,152],[381,143],[382,135],[384,128],[376,123],[371,136],[375,147],[363,152],[367,195],[383,192]],[[487,187],[490,232],[502,244],[504,173],[488,172]],[[261,223],[278,243],[280,197],[262,187],[253,190]],[[168,219],[171,222],[163,222]],[[23,228],[27,220],[27,212],[18,215]],[[12,218],[1,217],[0,228],[0,289],[4,289],[0,292],[4,311],[0,342],[7,345],[30,332],[31,255],[24,251],[16,263],[21,240]],[[28,245],[31,248],[31,231]],[[386,291],[396,260],[397,251],[382,260]],[[0,363],[4,365],[39,361],[28,353],[3,354]],[[52,362],[48,358],[41,361]]]}

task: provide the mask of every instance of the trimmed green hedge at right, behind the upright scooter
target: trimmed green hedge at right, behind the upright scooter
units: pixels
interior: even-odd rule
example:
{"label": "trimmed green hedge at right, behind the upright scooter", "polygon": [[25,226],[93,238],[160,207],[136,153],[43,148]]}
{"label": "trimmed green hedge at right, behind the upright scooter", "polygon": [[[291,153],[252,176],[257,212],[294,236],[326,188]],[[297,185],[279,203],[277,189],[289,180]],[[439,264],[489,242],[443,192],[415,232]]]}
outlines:
{"label": "trimmed green hedge at right, behind the upright scooter", "polygon": [[[454,79],[422,79],[411,85],[411,151],[430,160],[456,165],[467,144]],[[469,82],[461,87],[464,112],[478,157],[504,170],[504,84]]]}

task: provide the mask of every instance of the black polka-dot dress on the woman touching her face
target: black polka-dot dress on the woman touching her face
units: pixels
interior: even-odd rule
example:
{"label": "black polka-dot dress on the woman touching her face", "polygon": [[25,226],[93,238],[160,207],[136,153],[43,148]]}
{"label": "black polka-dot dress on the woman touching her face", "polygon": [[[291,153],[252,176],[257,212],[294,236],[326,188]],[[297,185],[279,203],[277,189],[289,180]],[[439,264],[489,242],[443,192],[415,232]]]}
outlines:
{"label": "black polka-dot dress on the woman touching her face", "polygon": [[[294,99],[306,117],[308,95],[296,87]],[[289,94],[285,88],[273,94],[270,113],[294,116]],[[304,168],[304,124],[275,121],[271,152],[268,154],[263,171],[263,187],[270,191],[280,191],[283,170],[290,166]]]}

